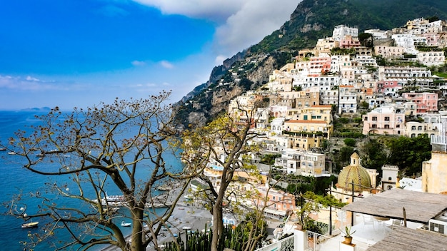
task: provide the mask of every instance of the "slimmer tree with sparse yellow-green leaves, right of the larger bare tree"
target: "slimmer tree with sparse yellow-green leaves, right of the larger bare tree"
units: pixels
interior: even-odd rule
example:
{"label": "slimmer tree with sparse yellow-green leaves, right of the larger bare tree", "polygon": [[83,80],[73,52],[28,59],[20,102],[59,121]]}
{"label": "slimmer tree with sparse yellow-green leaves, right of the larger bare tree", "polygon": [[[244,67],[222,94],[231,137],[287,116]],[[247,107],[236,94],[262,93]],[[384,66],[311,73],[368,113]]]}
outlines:
{"label": "slimmer tree with sparse yellow-green leaves, right of the larger bare tree", "polygon": [[[184,135],[186,169],[198,173],[202,182],[207,184],[201,192],[205,196],[206,206],[213,215],[211,251],[218,250],[218,244],[223,237],[224,206],[231,208],[231,203],[234,202],[234,199],[231,200],[229,197],[242,196],[230,186],[231,183],[238,181],[236,171],[245,170],[253,176],[258,174],[258,170],[247,161],[249,153],[256,153],[261,149],[259,145],[248,144],[253,138],[261,135],[251,130],[256,123],[254,110],[249,111],[239,106],[238,112],[242,114],[239,118],[221,116],[207,126],[196,128]],[[213,184],[213,180],[202,172],[212,163],[221,168],[219,184]]]}

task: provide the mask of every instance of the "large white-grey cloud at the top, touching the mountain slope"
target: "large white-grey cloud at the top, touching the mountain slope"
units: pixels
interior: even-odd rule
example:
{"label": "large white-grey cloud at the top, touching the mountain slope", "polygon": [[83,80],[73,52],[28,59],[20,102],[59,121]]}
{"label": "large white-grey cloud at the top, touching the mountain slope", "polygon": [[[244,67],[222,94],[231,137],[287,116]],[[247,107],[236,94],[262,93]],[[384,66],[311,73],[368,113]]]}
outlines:
{"label": "large white-grey cloud at the top, touching the mountain slope", "polygon": [[218,64],[279,29],[301,0],[134,0],[164,14],[215,21],[214,53]]}

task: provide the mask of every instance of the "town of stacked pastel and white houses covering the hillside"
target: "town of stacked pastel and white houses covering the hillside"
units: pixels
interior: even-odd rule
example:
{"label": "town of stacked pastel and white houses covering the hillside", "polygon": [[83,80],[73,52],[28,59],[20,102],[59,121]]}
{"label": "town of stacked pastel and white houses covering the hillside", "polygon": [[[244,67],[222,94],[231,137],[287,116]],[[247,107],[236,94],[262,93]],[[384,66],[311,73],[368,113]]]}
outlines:
{"label": "town of stacked pastel and white houses covering the hillside", "polygon": [[[404,220],[405,226],[408,220],[408,228],[411,228],[406,231],[407,235],[426,235],[430,239],[433,234],[445,247],[447,84],[445,77],[433,72],[446,66],[447,22],[419,18],[391,31],[370,29],[363,34],[371,36],[361,41],[357,27],[335,26],[331,37],[318,39],[314,48],[299,51],[292,63],[273,71],[262,88],[231,101],[228,115],[240,123],[254,119],[251,130],[263,137],[253,142],[263,145],[263,153],[277,156],[273,165],[266,165],[253,154],[251,163],[257,166],[259,172],[256,174],[261,178],[247,170],[238,170],[235,176],[239,182],[233,186],[238,190],[256,189],[260,198],[268,198],[266,203],[245,200],[242,204],[246,207],[266,205],[264,215],[283,222],[273,233],[273,242],[279,243],[281,237],[293,233],[295,244],[290,250],[316,250],[317,245],[320,245],[318,250],[394,250],[380,249],[383,246],[378,245],[389,245],[387,236],[401,231]],[[232,72],[236,81],[239,74]],[[226,84],[222,79],[219,86]],[[263,103],[263,107],[256,106],[258,103]],[[253,108],[256,110],[252,118],[247,117],[249,113],[241,112]],[[387,163],[381,170],[364,168],[361,157],[354,152],[349,164],[338,167],[340,172],[336,173],[328,152],[321,149],[324,143],[336,140],[334,121],[338,118],[350,121],[361,118],[346,125],[361,132],[358,138],[425,135],[431,140],[431,159],[422,163],[421,173],[408,176],[399,172],[396,163]],[[226,158],[224,152],[220,156]],[[299,215],[293,212],[300,210],[296,203],[299,198],[281,190],[281,186],[285,188],[286,185],[281,185],[280,180],[268,178],[272,170],[283,175],[313,178],[336,175],[337,183],[328,193],[348,205],[320,207],[311,212],[313,220],[326,225],[328,232],[308,242],[306,236],[310,237],[310,233],[300,235],[295,228]],[[222,167],[216,161],[208,163],[205,175],[216,190],[221,183],[221,172]],[[191,186],[199,190],[202,185],[206,184],[196,180]],[[372,204],[366,204],[370,199]],[[415,212],[411,210],[426,208],[422,202],[433,210],[418,211],[423,219],[414,218]],[[404,204],[406,216],[402,216]],[[224,217],[224,222],[231,224],[237,224],[238,220],[233,214]],[[321,240],[343,235],[342,230],[351,226],[357,231],[358,238],[354,235],[353,240],[357,246],[336,242],[324,249]],[[418,230],[425,232],[413,232]],[[368,237],[362,239],[361,232],[368,232],[365,234]],[[375,239],[376,235],[382,236]],[[302,243],[298,245],[298,242]],[[273,250],[273,246],[263,250]],[[401,244],[399,250],[407,249]]]}

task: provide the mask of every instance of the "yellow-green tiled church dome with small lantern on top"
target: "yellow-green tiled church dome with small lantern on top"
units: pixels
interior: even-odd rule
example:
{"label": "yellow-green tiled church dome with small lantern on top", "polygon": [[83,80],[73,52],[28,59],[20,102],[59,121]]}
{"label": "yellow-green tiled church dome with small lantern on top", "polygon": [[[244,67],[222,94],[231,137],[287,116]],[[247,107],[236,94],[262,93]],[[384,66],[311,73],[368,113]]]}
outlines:
{"label": "yellow-green tiled church dome with small lantern on top", "polygon": [[351,164],[344,167],[338,175],[338,188],[352,190],[351,183],[354,183],[355,191],[371,188],[371,178],[366,168],[360,165],[360,157],[357,153],[351,155]]}

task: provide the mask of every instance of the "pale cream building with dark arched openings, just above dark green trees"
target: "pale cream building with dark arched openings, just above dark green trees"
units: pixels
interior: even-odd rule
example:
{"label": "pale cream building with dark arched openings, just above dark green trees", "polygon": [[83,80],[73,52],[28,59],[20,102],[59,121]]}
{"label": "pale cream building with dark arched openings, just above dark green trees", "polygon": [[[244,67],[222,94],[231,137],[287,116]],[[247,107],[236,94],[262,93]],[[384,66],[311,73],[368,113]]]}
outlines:
{"label": "pale cream building with dark arched openings, just above dark green trees", "polygon": [[363,134],[403,135],[405,109],[403,106],[381,106],[362,116]]}

